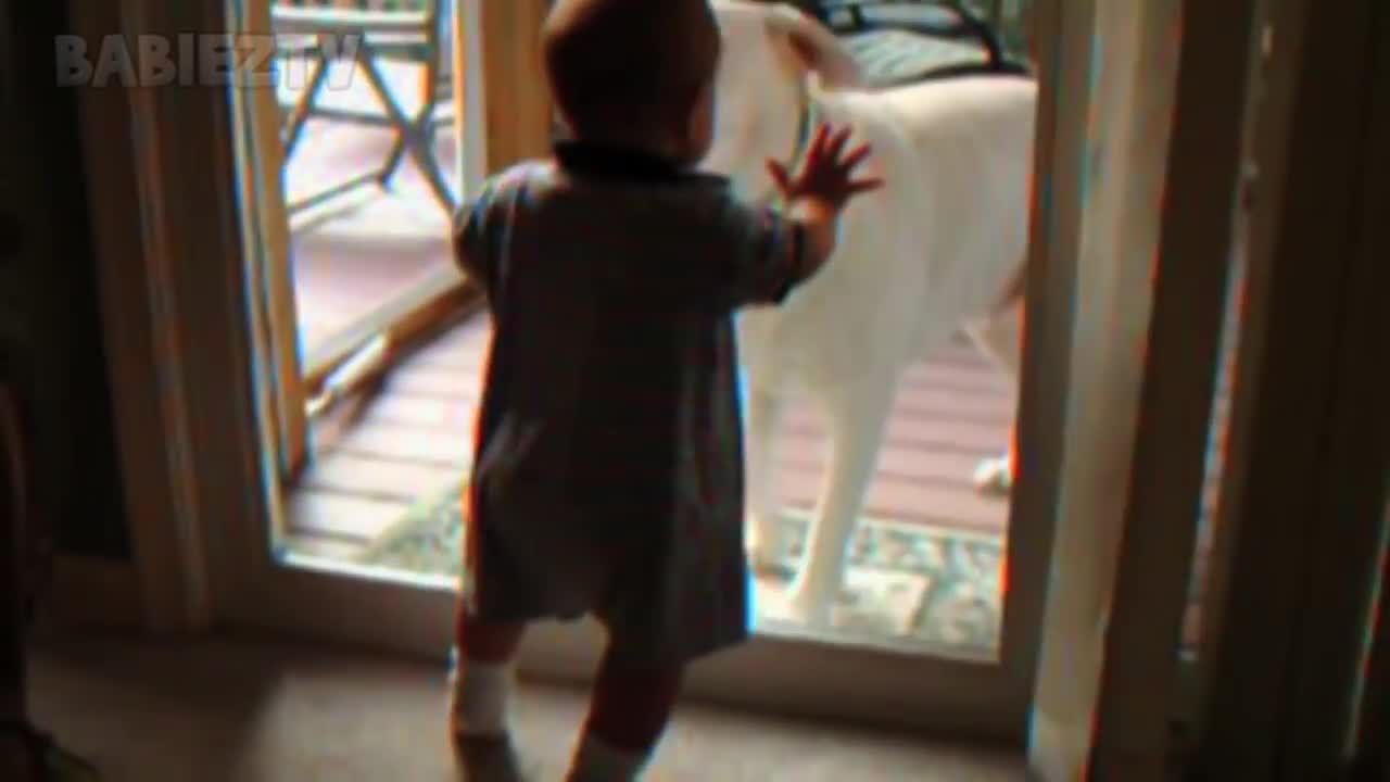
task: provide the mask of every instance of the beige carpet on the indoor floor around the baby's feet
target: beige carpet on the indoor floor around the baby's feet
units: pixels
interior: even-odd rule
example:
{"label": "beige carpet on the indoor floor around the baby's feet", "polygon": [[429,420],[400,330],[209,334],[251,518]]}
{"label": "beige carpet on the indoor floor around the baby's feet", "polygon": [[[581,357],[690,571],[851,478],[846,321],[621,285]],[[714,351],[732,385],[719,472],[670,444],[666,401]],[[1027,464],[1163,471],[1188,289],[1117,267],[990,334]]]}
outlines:
{"label": "beige carpet on the indoor floor around the baby's feet", "polygon": [[[460,779],[435,665],[285,643],[46,640],[35,712],[107,782]],[[518,742],[564,771],[580,693],[524,686]],[[684,705],[652,782],[1023,779],[1017,753]]]}

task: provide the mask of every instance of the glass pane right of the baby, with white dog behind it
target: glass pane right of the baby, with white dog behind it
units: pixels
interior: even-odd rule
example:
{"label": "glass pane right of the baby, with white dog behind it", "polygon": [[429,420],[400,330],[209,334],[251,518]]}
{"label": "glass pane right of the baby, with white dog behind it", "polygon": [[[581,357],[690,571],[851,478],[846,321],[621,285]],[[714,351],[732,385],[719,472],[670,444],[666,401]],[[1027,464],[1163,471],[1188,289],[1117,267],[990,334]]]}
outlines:
{"label": "glass pane right of the baby, with white dog behind it", "polygon": [[[819,10],[869,83],[917,90],[903,129],[955,124],[945,132],[987,134],[995,143],[958,160],[949,173],[958,178],[945,182],[934,179],[944,175],[937,156],[949,154],[945,145],[899,147],[867,131],[862,138],[874,142],[888,188],[848,213],[830,269],[783,306],[739,316],[756,628],[992,658],[1008,529],[1001,455],[1016,409],[1020,306],[984,316],[1024,253],[1034,100],[1015,92],[1022,79],[941,78],[991,67],[986,43],[945,4]],[[708,161],[749,200],[771,193],[767,157],[791,157],[817,117],[853,115],[837,96],[805,92],[794,79],[806,67],[833,79],[837,53],[803,47],[801,60],[781,60],[777,31],[769,40],[758,13],[724,17],[716,136],[727,141]],[[970,115],[969,96],[990,90],[992,113]],[[929,115],[933,104],[940,115]],[[974,174],[992,166],[1004,178],[998,189],[973,186]],[[949,188],[976,216],[973,225],[952,225],[960,244],[940,257],[919,249],[930,246],[924,220],[897,217],[910,199],[931,198],[909,195],[916,186]],[[1001,231],[1005,242],[986,249]],[[970,288],[966,277],[977,271]]]}

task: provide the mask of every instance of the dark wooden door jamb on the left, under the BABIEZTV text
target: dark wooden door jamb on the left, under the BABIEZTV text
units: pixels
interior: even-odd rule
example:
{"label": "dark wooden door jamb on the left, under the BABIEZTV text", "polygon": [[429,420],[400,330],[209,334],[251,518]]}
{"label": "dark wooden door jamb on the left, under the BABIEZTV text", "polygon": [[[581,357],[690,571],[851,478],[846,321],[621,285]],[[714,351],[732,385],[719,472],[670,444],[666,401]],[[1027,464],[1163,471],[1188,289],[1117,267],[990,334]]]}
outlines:
{"label": "dark wooden door jamb on the left, under the BABIEZTV text", "polygon": [[[75,33],[89,42],[107,35],[133,36],[150,31],[140,3],[75,3]],[[204,29],[196,25],[165,31]],[[179,106],[175,90],[79,86],[83,145],[97,252],[101,321],[111,376],[117,442],[124,468],[126,520],[143,623],[154,632],[204,628],[211,621],[213,584],[207,550],[197,523],[199,491],[188,480],[192,469],[192,429],[196,392],[186,373],[171,366],[190,351],[183,328],[188,301],[172,301],[174,280],[195,277],[178,267],[171,248],[221,248],[238,227],[199,210],[196,199],[164,203],[157,193],[186,171],[207,171],[204,161],[160,154],[172,128],[199,132],[220,117]],[[185,93],[188,95],[188,93]],[[139,139],[131,128],[139,127]],[[113,132],[115,134],[113,136]],[[213,167],[215,177],[227,170]],[[234,181],[221,179],[232,192]],[[161,186],[163,185],[163,186]],[[157,189],[156,189],[157,188]],[[203,188],[196,195],[208,193]],[[177,214],[174,214],[177,213]],[[192,220],[185,217],[192,216]],[[208,228],[203,234],[200,228]],[[234,245],[235,246],[235,245]],[[214,250],[215,252],[215,250]],[[186,256],[185,256],[186,257]],[[203,271],[203,269],[199,269]],[[217,285],[221,280],[207,280]],[[196,309],[193,310],[196,314]],[[157,378],[157,381],[152,381]],[[58,584],[61,587],[61,583]],[[63,596],[58,596],[60,600]],[[88,594],[101,603],[104,593]]]}

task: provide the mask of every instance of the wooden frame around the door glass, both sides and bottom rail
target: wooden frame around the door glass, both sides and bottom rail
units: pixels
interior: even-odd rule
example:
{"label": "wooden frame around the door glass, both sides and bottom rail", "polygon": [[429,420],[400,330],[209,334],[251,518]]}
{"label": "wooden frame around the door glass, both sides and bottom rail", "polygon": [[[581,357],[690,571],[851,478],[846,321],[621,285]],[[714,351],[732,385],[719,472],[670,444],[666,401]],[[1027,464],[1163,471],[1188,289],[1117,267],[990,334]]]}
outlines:
{"label": "wooden frame around the door glass, both sides and bottom rail", "polygon": [[[507,106],[495,97],[484,102],[488,170],[495,171],[549,142],[549,107],[535,97],[541,90],[534,81],[539,74],[534,31],[546,4],[474,0],[470,6],[481,10],[488,95],[510,95],[514,103]],[[1029,410],[1024,416],[1033,423],[1020,431],[1024,470],[1012,501],[1016,523],[1011,525],[1011,550],[1017,551],[1008,559],[1015,596],[1005,609],[1004,660],[998,665],[974,665],[891,650],[760,637],[698,665],[691,676],[692,694],[802,715],[1015,742],[1027,735],[1058,513],[1054,500],[1069,404],[1065,367],[1073,366],[1072,321],[1063,305],[1076,280],[1074,249],[1081,228],[1086,111],[1065,109],[1087,106],[1087,74],[1095,54],[1088,40],[1093,0],[1068,1],[1065,7],[1063,15],[1061,0],[1042,0],[1036,11],[1041,31],[1059,33],[1040,36],[1042,61],[1074,67],[1056,70],[1065,75],[1041,85],[1040,106],[1047,109],[1038,117],[1038,181],[1052,173],[1059,175],[1052,177],[1054,186],[1045,193],[1048,207],[1034,216],[1034,230],[1045,231],[1045,239],[1034,242],[1030,259],[1034,358],[1026,362],[1020,391],[1020,409]],[[125,15],[118,17],[120,11]],[[222,29],[227,24],[222,6],[214,0],[122,0],[110,11],[83,7],[79,13],[89,17],[85,31],[129,35]],[[1081,46],[1068,49],[1061,42]],[[126,459],[125,465],[135,488],[132,508],[142,509],[132,512],[131,520],[152,625],[172,630],[224,623],[264,628],[442,658],[452,626],[445,584],[421,590],[368,579],[353,584],[352,608],[343,611],[341,576],[311,566],[282,568],[267,551],[264,529],[278,497],[247,487],[272,486],[277,466],[261,448],[264,431],[256,416],[264,402],[257,394],[264,390],[245,359],[257,349],[257,338],[246,328],[243,238],[234,199],[228,198],[235,192],[238,166],[228,102],[211,89],[138,89],[128,93],[126,104],[114,106],[103,100],[118,90],[88,92],[89,156],[114,154],[117,161],[93,171],[93,186],[113,207],[128,206],[124,214],[117,209],[117,216],[106,220],[107,228],[128,232],[131,224],[145,227],[138,237],[125,235],[124,244],[113,245],[125,249],[126,259],[139,259],[133,264],[138,269],[103,276],[103,288],[107,323],[129,319],[150,330],[143,341],[117,345],[113,366],[118,377],[128,378],[125,395],[117,399],[122,444],[143,456]],[[1054,104],[1055,97],[1070,103]],[[142,128],[140,142],[132,141],[128,154],[120,145],[111,149],[108,136],[99,135],[104,128],[122,127],[111,124],[113,114],[135,117]],[[160,135],[158,128],[179,132],[174,138]],[[120,163],[128,164],[133,177],[122,181]],[[204,186],[188,186],[181,171],[189,170],[207,173]],[[126,200],[111,199],[113,193],[125,193]],[[140,284],[132,285],[131,278]],[[152,299],[156,291],[158,298]],[[1048,358],[1063,362],[1048,367],[1042,363]],[[157,374],[174,381],[136,381]],[[126,417],[132,410],[143,417]],[[1058,458],[1041,458],[1052,455]],[[1020,596],[1019,590],[1029,594]],[[391,637],[382,637],[384,616],[391,618]],[[598,637],[591,623],[537,628],[523,665],[552,678],[584,680],[596,661]],[[859,675],[853,682],[838,675],[848,658]],[[806,687],[806,680],[817,686]]]}

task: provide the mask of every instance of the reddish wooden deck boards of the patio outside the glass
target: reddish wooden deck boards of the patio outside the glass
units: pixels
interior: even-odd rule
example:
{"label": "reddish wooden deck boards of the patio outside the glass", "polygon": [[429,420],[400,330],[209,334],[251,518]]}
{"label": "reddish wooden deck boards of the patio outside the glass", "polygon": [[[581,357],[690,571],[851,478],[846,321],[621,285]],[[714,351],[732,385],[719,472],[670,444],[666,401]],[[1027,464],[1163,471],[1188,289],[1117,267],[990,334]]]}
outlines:
{"label": "reddish wooden deck boards of the patio outside the glass", "polygon": [[[406,504],[457,480],[473,447],[488,326],[475,317],[411,356],[354,420],[322,427],[302,481],[296,529],[346,544],[368,541]],[[966,345],[913,366],[894,408],[867,515],[1002,534],[1008,502],[969,484],[979,459],[1006,441],[1013,395]],[[820,488],[824,430],[808,404],[788,415],[781,458],[787,502],[810,508]]]}

